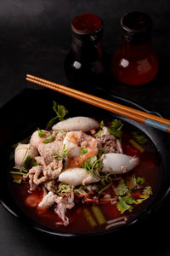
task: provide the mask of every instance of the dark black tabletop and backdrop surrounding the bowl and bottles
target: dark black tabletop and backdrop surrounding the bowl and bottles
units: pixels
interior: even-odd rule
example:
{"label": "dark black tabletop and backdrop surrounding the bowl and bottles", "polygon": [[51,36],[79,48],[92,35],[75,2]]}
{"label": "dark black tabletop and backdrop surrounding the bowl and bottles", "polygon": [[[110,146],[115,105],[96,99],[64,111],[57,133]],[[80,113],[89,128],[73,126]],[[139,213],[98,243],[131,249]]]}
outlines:
{"label": "dark black tabletop and backdrop surrounding the bowl and bottles", "polygon": [[[150,84],[135,88],[115,79],[100,86],[109,94],[122,96],[170,119],[169,0],[0,1],[0,107],[20,90],[35,88],[26,82],[26,73],[69,84],[63,63],[70,49],[73,17],[82,13],[99,15],[105,24],[103,47],[112,55],[122,41],[119,20],[132,10],[144,11],[154,20],[152,42],[159,58],[159,72]],[[169,201],[170,198],[144,224],[132,228],[130,234],[125,231],[90,239],[45,236],[0,206],[0,255],[170,255]]]}

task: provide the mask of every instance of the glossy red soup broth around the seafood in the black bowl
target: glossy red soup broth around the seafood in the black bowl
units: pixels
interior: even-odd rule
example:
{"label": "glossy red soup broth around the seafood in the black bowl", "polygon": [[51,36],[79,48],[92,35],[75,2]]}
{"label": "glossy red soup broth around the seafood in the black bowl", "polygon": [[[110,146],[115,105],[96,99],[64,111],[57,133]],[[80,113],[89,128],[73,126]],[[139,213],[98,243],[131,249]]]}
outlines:
{"label": "glossy red soup broth around the seafood in the black bowl", "polygon": [[[138,149],[133,148],[133,146],[129,143],[130,139],[132,139],[132,128],[123,128],[123,153],[132,156],[138,156],[140,162],[139,166],[135,167],[133,171],[124,174],[123,177],[129,175],[132,176],[133,174],[135,177],[144,177],[145,183],[151,186],[153,194],[149,199],[143,201],[141,204],[135,205],[132,212],[126,211],[123,214],[116,208],[116,204],[99,204],[98,207],[100,208],[101,212],[103,212],[106,220],[126,216],[128,222],[132,218],[139,216],[139,214],[143,212],[147,206],[150,205],[150,201],[152,201],[155,197],[160,183],[160,160],[153,143],[150,141],[144,143],[144,145],[142,145],[144,152],[140,153]],[[14,196],[14,200],[19,205],[21,210],[25,212],[28,217],[36,220],[37,223],[42,224],[45,227],[49,227],[54,230],[61,230],[68,233],[89,233],[105,230],[106,224],[98,224],[94,227],[91,227],[90,224],[88,224],[87,219],[84,217],[83,210],[85,208],[87,208],[88,211],[93,215],[91,209],[93,203],[84,203],[81,200],[79,200],[78,203],[75,203],[75,207],[73,207],[71,210],[67,210],[66,212],[66,216],[69,218],[70,224],[68,226],[64,226],[56,224],[57,222],[60,222],[60,219],[54,212],[54,207],[48,208],[45,211],[43,211],[43,209],[41,211],[37,210],[37,205],[42,200],[41,190],[37,189],[36,191],[30,192],[28,182],[23,182],[20,184],[12,182],[11,191]]]}

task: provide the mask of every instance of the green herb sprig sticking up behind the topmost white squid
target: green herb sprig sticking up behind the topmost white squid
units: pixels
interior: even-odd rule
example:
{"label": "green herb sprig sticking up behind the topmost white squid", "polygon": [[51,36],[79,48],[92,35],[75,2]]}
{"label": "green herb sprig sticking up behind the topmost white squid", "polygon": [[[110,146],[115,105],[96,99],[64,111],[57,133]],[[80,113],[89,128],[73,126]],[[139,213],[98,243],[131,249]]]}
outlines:
{"label": "green herb sprig sticking up behind the topmost white squid", "polygon": [[46,126],[46,129],[51,128],[52,125],[54,125],[54,122],[56,119],[59,119],[59,121],[64,120],[65,115],[68,113],[68,110],[63,105],[57,104],[57,102],[53,102],[54,106],[54,112],[56,113],[56,116],[48,121],[48,124]]}

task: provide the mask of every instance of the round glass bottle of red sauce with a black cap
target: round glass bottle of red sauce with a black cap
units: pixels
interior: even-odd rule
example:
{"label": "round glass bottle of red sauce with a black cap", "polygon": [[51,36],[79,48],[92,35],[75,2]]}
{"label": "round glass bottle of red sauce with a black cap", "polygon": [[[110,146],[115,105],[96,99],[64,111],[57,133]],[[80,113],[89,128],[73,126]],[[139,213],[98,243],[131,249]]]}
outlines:
{"label": "round glass bottle of red sauce with a black cap", "polygon": [[140,12],[122,17],[122,46],[112,57],[111,69],[123,84],[146,84],[158,71],[158,60],[150,43],[152,20]]}

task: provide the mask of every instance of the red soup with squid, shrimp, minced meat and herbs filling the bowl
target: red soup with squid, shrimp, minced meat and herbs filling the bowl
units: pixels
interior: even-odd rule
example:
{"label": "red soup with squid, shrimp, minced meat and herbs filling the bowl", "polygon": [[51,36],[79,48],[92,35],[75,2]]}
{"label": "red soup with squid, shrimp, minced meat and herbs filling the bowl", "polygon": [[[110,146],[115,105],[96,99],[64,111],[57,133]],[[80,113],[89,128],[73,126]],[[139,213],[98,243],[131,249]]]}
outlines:
{"label": "red soup with squid, shrimp, minced meat and herbs filling the bowl", "polygon": [[93,233],[126,224],[150,204],[160,163],[148,138],[118,119],[48,124],[14,151],[11,187],[26,215],[53,230]]}

